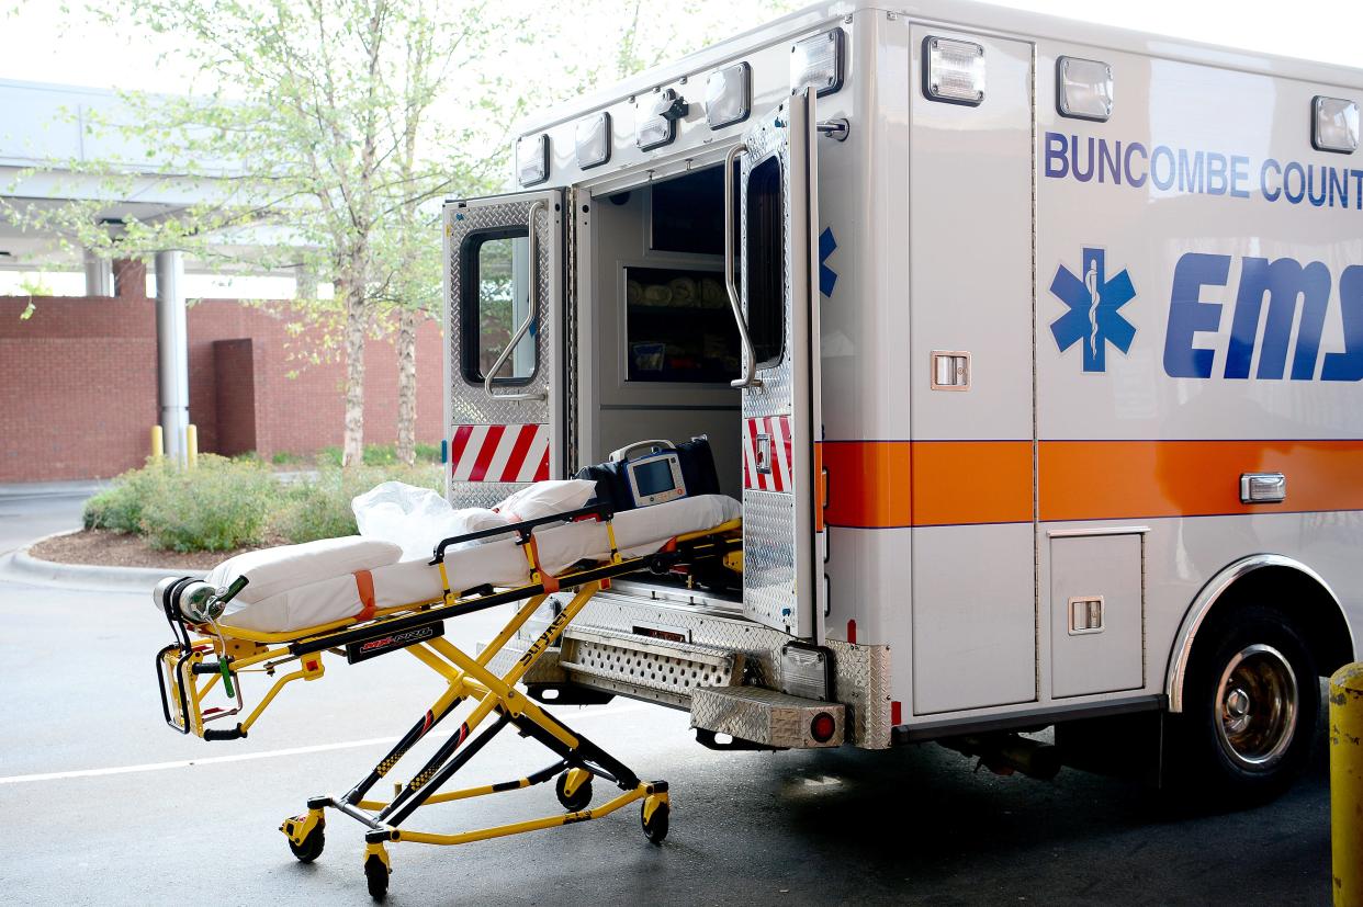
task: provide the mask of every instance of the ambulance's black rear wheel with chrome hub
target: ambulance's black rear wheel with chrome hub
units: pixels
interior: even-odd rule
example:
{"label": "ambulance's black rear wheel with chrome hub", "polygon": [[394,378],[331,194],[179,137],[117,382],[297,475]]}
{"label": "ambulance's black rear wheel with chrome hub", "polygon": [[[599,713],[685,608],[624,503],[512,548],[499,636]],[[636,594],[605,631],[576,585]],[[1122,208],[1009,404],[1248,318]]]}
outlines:
{"label": "ambulance's black rear wheel with chrome hub", "polygon": [[1304,768],[1319,711],[1315,661],[1289,618],[1235,609],[1194,644],[1165,750],[1174,791],[1231,809],[1273,799]]}

